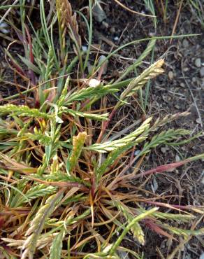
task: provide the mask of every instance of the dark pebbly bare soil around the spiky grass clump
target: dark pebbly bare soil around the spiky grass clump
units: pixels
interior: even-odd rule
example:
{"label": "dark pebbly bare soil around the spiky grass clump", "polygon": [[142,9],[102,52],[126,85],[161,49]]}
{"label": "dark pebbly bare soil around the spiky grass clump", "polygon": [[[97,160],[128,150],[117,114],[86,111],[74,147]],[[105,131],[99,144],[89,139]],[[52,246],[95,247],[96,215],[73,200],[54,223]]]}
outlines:
{"label": "dark pebbly bare soil around the spiky grass clump", "polygon": [[[71,1],[73,8],[81,8],[86,1],[76,3]],[[120,1],[125,6],[132,10],[150,14],[145,9],[143,1],[126,0]],[[156,1],[155,1],[156,2]],[[101,49],[109,52],[115,49],[116,46],[128,43],[139,38],[147,38],[151,36],[169,36],[173,31],[173,25],[177,15],[177,1],[168,1],[168,15],[166,21],[159,10],[156,10],[157,25],[156,29],[152,22],[152,18],[143,17],[131,13],[129,10],[124,10],[113,0],[104,1],[101,6],[105,12],[106,18],[102,22],[97,22],[94,19],[94,43],[101,45]],[[184,1],[185,2],[185,1]],[[81,24],[81,29],[82,29]],[[166,73],[156,80],[152,81],[150,85],[150,97],[147,106],[147,114],[154,114],[155,117],[166,116],[166,114],[174,114],[182,111],[190,111],[191,114],[186,118],[170,123],[168,128],[185,128],[192,131],[192,134],[203,131],[204,127],[204,37],[201,24],[198,22],[196,15],[191,12],[189,6],[184,3],[177,27],[175,29],[176,35],[181,34],[199,34],[198,36],[191,36],[187,38],[170,40],[159,40],[156,42],[154,50],[154,60],[159,59],[163,55],[166,64]],[[104,80],[108,80],[110,75],[115,78],[122,73],[124,69],[132,64],[133,59],[137,59],[141,52],[145,50],[147,43],[131,45],[121,52],[119,55],[124,58],[112,58],[108,64],[108,72],[103,75]],[[1,52],[2,53],[2,52]],[[145,61],[150,62],[150,58]],[[1,66],[5,66],[3,56],[1,54]],[[144,63],[141,67],[147,66]],[[143,69],[141,69],[143,70]],[[6,77],[8,80],[12,77],[13,72],[7,70]],[[135,76],[132,74],[130,76]],[[10,92],[15,91],[13,87],[3,85],[1,87],[1,97],[10,95]],[[145,93],[143,93],[145,94]],[[111,99],[110,99],[111,102]],[[119,126],[121,129],[131,124],[132,120],[137,120],[142,116],[142,111],[138,107],[136,100],[132,100],[133,111],[131,115],[122,121]],[[126,109],[122,109],[115,116],[115,121],[126,117]],[[182,147],[156,148],[156,150],[146,158],[145,169],[154,168],[158,165],[163,165],[168,162],[175,162],[194,156],[198,153],[204,153],[204,138],[199,137],[191,144]],[[137,183],[138,185],[138,183]],[[182,169],[177,169],[175,172],[167,174],[167,176],[157,175],[149,179],[147,182],[147,190],[151,190],[157,195],[164,194],[172,195],[170,203],[172,204],[194,204],[204,205],[204,167],[203,161],[191,163]],[[175,196],[174,196],[175,195]],[[199,227],[204,226],[203,223]],[[167,258],[174,248],[182,241],[171,244],[165,237],[159,237],[151,230],[146,232],[146,244],[140,247],[145,258]],[[126,241],[124,241],[126,242]],[[200,258],[204,251],[203,239],[192,238],[187,243],[183,250],[177,255],[177,258],[196,259]],[[130,242],[128,247],[138,247],[138,244]]]}

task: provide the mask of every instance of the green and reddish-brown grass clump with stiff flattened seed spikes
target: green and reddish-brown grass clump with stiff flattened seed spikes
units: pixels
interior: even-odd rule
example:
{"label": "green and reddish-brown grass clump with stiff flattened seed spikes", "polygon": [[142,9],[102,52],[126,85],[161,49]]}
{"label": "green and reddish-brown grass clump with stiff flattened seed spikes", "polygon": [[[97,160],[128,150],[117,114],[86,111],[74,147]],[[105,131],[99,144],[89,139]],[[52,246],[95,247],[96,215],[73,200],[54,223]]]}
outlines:
{"label": "green and reddish-brown grass clump with stiff flattened seed spikes", "polygon": [[[168,204],[163,197],[157,202],[156,195],[149,194],[151,198],[147,199],[145,190],[141,190],[143,196],[136,188],[137,179],[143,176],[174,174],[176,167],[204,158],[196,155],[139,173],[145,156],[157,146],[187,142],[180,139],[189,137],[188,130],[162,130],[187,113],[156,120],[148,117],[140,125],[117,133],[108,124],[148,80],[163,73],[164,61],[159,59],[136,78],[122,80],[147,57],[157,38],[149,39],[146,50],[124,71],[124,76],[104,83],[97,74],[125,45],[102,62],[96,60],[92,74],[86,76],[92,44],[92,0],[89,22],[78,12],[89,34],[84,51],[71,4],[56,0],[54,6],[51,2],[47,16],[41,0],[38,30],[29,21],[24,0],[17,7],[22,31],[10,22],[22,39],[25,55],[18,57],[27,69],[10,55],[9,49],[5,50],[6,57],[29,88],[3,99],[4,105],[0,106],[1,254],[22,259],[116,259],[125,252],[143,258],[138,252],[146,245],[145,228],[175,242],[179,237],[203,235],[203,229],[175,227],[193,221],[195,224],[196,218],[203,215],[201,207]],[[117,97],[110,113],[104,106],[107,94]],[[17,99],[24,99],[24,105],[10,102]],[[130,151],[137,146],[140,153],[130,158]],[[131,251],[122,246],[126,235],[132,235],[141,249]]]}

